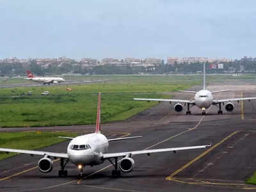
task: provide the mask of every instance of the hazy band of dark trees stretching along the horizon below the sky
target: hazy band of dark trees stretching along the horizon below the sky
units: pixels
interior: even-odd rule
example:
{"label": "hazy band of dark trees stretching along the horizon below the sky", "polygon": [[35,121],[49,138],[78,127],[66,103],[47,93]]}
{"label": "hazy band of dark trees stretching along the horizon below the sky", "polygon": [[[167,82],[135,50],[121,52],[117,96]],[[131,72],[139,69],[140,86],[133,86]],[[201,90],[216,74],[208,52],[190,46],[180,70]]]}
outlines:
{"label": "hazy band of dark trees stretching along the horizon below the sky", "polygon": [[[211,68],[211,63],[205,63],[206,72],[225,73],[239,72],[241,66],[244,72],[256,72],[256,61],[230,61],[223,63],[223,68]],[[47,68],[37,65],[31,61],[26,67],[22,63],[1,63],[0,76],[26,76],[26,70],[31,70],[37,76],[61,75],[61,74],[189,74],[202,72],[202,63],[174,63],[173,65],[156,65],[154,67],[142,66],[116,66],[116,65],[97,65],[94,67],[82,67],[77,63],[61,63],[56,65],[49,64]]]}

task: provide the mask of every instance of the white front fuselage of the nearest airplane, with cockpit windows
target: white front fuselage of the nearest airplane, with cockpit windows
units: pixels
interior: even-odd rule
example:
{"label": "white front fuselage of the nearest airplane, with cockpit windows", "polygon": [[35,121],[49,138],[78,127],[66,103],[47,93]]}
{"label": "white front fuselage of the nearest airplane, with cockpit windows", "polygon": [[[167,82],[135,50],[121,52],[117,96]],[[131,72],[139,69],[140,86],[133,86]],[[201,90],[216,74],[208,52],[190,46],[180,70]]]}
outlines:
{"label": "white front fuselage of the nearest airplane, with cockpit windows", "polygon": [[74,164],[97,165],[103,163],[102,154],[108,151],[108,140],[100,133],[74,138],[68,144],[68,159]]}

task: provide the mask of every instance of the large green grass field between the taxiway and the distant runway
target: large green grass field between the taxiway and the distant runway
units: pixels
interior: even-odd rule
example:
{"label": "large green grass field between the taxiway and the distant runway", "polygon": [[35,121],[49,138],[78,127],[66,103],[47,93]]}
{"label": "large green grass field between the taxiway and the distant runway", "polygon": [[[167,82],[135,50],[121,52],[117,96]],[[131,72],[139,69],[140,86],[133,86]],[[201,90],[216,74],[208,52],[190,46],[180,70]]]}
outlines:
{"label": "large green grass field between the taxiway and the distant runway", "polygon": [[[104,76],[104,78],[106,78]],[[158,102],[134,101],[141,98],[170,98],[166,92],[184,90],[198,83],[192,77],[111,77],[111,82],[66,86],[2,88],[0,126],[95,124],[97,93],[102,92],[102,122],[124,120]],[[28,92],[33,92],[28,96]],[[49,91],[47,96],[40,93]]]}

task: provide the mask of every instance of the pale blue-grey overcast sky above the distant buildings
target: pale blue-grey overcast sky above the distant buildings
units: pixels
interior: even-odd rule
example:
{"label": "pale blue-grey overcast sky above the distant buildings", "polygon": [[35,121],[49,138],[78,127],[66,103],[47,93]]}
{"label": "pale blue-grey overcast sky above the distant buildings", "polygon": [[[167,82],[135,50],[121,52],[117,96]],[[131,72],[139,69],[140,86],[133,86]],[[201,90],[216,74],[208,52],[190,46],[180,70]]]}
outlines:
{"label": "pale blue-grey overcast sky above the distant buildings", "polygon": [[256,56],[256,1],[0,0],[0,58]]}

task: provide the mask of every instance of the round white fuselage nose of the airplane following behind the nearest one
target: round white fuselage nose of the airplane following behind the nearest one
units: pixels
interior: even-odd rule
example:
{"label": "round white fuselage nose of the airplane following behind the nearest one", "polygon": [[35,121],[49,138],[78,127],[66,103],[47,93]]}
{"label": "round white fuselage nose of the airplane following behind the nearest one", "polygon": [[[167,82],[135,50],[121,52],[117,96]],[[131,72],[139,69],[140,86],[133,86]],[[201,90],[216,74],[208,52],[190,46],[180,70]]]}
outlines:
{"label": "round white fuselage nose of the airplane following behind the nearest one", "polygon": [[209,90],[200,90],[195,95],[195,104],[198,108],[209,108],[212,105],[212,93]]}

